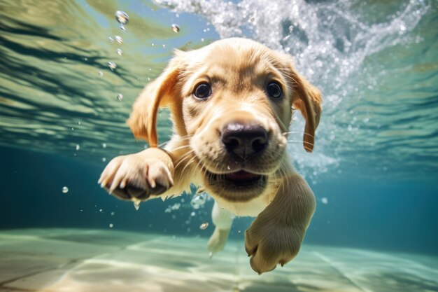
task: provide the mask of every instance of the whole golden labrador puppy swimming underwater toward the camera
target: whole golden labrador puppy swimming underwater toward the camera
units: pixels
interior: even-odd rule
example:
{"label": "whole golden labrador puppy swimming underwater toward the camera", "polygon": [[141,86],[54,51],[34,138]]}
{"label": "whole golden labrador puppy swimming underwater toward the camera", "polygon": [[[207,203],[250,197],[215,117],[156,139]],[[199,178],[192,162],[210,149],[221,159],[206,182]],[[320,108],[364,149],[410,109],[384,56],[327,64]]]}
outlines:
{"label": "whole golden labrador puppy swimming underwater toward the camera", "polygon": [[[215,200],[209,250],[220,251],[232,218],[257,216],[246,230],[250,265],[259,274],[294,258],[315,209],[312,190],[286,153],[292,110],[306,119],[311,152],[321,95],[289,55],[248,39],[177,50],[146,85],[127,120],[150,147],[114,158],[99,183],[123,200],[179,195],[195,183]],[[168,106],[174,135],[157,148],[157,111]]]}

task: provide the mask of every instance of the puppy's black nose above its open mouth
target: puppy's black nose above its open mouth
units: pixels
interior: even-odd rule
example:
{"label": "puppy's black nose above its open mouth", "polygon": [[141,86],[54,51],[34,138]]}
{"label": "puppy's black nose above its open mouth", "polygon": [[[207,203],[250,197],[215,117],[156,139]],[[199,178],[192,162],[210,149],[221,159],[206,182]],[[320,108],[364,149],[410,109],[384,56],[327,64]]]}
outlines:
{"label": "puppy's black nose above its open mouth", "polygon": [[260,125],[230,123],[222,130],[222,143],[228,153],[248,158],[268,145],[268,133]]}

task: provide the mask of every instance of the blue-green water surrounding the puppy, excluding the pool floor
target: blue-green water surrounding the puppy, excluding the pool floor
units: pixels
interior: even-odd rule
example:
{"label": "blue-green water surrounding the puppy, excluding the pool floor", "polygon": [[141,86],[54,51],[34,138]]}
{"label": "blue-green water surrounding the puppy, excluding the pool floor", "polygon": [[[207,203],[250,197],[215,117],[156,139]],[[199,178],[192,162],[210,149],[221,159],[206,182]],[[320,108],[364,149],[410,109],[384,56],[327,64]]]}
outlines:
{"label": "blue-green water surrounding the puppy, excluding the pool floor", "polygon": [[[323,92],[315,151],[305,153],[301,142],[288,146],[318,203],[304,245],[436,262],[437,8],[425,0],[2,1],[0,229],[208,238],[212,200],[194,209],[184,195],[136,211],[106,195],[97,179],[111,158],[146,147],[125,120],[174,48],[244,36],[292,55]],[[114,18],[118,10],[129,15],[126,31]],[[166,109],[158,127],[167,141]],[[299,141],[303,128],[297,115],[291,140]],[[238,218],[232,239],[241,241],[251,220]],[[210,225],[202,230],[202,223]],[[436,281],[414,287],[406,291],[438,291]]]}

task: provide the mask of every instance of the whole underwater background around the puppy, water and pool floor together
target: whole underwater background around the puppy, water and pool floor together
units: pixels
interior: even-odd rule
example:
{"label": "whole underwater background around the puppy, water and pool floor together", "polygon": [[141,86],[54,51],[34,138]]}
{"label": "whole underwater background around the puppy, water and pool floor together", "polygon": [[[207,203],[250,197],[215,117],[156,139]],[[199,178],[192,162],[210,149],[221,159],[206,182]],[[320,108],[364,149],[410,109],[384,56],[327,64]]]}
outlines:
{"label": "whole underwater background around the puppy, water and pool floor together", "polygon": [[[3,0],[0,15],[0,292],[438,291],[437,0]],[[209,251],[199,186],[134,204],[97,183],[149,147],[126,120],[174,50],[235,36],[292,56],[323,97],[313,152],[299,111],[286,146],[316,211],[262,274],[254,217]]]}

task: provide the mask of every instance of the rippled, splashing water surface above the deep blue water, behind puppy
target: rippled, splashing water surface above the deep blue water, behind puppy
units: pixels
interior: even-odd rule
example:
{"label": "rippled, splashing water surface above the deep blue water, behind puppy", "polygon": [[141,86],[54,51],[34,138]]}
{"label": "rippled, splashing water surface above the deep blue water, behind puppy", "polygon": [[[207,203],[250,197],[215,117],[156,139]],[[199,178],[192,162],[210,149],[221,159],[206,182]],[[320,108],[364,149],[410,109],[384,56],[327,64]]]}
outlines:
{"label": "rippled, splashing water surface above the deep blue water, behind puppy", "polygon": [[[432,1],[18,2],[0,4],[1,145],[100,163],[139,151],[145,145],[136,143],[125,120],[172,48],[246,36],[294,56],[297,69],[323,91],[316,152],[306,154],[300,143],[289,147],[311,181],[321,172],[438,173],[438,39],[430,29],[438,14]],[[127,32],[114,20],[120,9],[130,16]],[[108,41],[119,34],[122,44]],[[108,62],[117,69],[108,69]],[[291,130],[303,127],[297,116]],[[160,113],[159,132],[161,141],[171,136],[167,110]]]}

